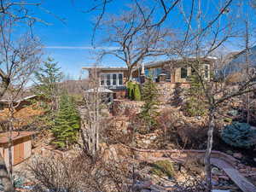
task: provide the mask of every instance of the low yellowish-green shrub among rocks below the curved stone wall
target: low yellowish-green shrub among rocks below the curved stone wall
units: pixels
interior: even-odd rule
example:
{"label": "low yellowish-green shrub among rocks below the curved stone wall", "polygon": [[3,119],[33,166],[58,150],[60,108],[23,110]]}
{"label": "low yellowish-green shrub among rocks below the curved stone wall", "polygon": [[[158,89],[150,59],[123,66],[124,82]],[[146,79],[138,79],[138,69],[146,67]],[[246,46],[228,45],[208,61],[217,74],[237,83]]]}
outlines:
{"label": "low yellowish-green shrub among rocks below the curved stone wall", "polygon": [[173,177],[174,169],[169,160],[158,160],[153,164],[151,172],[160,177]]}

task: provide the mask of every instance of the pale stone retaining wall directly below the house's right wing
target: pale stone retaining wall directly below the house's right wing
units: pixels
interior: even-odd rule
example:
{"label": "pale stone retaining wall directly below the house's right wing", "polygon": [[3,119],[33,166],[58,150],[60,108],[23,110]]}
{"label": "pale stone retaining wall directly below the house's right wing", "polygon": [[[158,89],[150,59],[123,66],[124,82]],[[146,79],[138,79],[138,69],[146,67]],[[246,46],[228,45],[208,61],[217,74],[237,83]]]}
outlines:
{"label": "pale stone retaining wall directly below the house's right wing", "polygon": [[178,95],[183,96],[183,90],[189,88],[188,83],[157,83],[160,102],[171,104],[176,102]]}

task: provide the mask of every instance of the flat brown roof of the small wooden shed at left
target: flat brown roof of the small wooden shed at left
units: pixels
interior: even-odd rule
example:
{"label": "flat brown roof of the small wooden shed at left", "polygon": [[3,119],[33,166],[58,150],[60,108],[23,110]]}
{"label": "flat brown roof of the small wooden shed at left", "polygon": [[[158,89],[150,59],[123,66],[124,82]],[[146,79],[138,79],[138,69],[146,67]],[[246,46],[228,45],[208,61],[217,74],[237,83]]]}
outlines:
{"label": "flat brown roof of the small wooden shed at left", "polygon": [[[36,134],[35,131],[12,131],[11,138],[13,141],[22,137],[28,137]],[[0,143],[9,143],[9,131],[0,133]]]}

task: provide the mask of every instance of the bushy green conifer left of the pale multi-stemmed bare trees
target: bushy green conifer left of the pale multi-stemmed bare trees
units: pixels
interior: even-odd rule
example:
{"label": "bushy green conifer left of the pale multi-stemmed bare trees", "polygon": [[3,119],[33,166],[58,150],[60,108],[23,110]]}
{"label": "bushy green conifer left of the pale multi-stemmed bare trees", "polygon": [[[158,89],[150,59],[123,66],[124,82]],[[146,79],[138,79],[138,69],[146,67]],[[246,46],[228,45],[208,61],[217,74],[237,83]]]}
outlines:
{"label": "bushy green conifer left of the pale multi-stemmed bare trees", "polygon": [[61,96],[60,108],[55,118],[52,132],[55,136],[55,144],[60,148],[67,148],[76,143],[79,136],[80,118],[73,98],[67,95]]}

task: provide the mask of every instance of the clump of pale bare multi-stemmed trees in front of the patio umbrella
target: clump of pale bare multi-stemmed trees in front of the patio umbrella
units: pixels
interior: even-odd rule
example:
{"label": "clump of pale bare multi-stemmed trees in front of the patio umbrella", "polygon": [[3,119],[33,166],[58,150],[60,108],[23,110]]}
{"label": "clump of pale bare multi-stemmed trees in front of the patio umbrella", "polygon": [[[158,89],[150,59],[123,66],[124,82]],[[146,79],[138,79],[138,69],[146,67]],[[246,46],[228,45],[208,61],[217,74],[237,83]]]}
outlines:
{"label": "clump of pale bare multi-stemmed trees in front of the patio umbrella", "polygon": [[[84,152],[96,157],[99,150],[101,131],[105,126],[103,121],[108,116],[110,102],[112,100],[111,90],[104,89],[100,86],[99,69],[95,65],[90,70],[90,79],[87,84],[82,85],[83,104],[80,108],[81,113],[81,138],[83,141]],[[107,113],[107,114],[106,114]]]}

